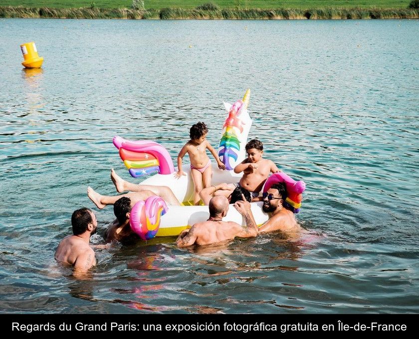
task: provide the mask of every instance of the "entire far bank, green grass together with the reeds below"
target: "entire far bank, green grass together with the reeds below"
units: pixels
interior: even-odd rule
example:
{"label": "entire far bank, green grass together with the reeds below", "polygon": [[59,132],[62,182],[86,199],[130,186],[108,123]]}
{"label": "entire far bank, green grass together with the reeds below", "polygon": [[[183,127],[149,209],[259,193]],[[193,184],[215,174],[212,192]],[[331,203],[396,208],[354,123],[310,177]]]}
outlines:
{"label": "entire far bank, green grass together with the reeds below", "polygon": [[[0,0],[0,17],[88,19],[378,19],[419,18],[410,0],[145,0],[146,10],[131,1]],[[209,9],[208,9],[209,8]]]}

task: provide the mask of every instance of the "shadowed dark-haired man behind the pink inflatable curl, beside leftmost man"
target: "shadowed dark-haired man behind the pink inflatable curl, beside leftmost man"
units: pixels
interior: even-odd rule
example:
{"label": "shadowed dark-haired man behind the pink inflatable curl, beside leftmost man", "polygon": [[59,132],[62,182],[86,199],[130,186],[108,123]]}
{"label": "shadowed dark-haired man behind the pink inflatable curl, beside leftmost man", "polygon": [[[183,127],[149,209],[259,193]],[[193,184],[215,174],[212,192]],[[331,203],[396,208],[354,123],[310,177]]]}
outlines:
{"label": "shadowed dark-haired man behind the pink inflatable curl, beside leftmost man", "polygon": [[105,232],[105,239],[107,242],[119,241],[128,245],[140,240],[140,237],[132,231],[130,225],[131,209],[139,200],[138,197],[136,198],[136,196],[133,195],[133,199],[123,196],[115,201],[114,214],[116,220]]}

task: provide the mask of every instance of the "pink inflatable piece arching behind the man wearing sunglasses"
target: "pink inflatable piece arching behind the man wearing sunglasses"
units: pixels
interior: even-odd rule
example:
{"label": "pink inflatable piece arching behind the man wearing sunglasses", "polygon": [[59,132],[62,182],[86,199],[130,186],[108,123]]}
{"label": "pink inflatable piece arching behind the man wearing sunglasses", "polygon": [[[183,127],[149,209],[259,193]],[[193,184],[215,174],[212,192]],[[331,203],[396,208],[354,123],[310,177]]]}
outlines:
{"label": "pink inflatable piece arching behind the man wearing sunglasses", "polygon": [[294,213],[298,213],[301,207],[301,201],[303,200],[303,192],[305,190],[305,182],[295,181],[289,175],[284,172],[273,173],[268,177],[263,186],[263,193],[265,193],[273,184],[278,182],[284,182],[287,189],[287,197],[285,203],[291,208]]}

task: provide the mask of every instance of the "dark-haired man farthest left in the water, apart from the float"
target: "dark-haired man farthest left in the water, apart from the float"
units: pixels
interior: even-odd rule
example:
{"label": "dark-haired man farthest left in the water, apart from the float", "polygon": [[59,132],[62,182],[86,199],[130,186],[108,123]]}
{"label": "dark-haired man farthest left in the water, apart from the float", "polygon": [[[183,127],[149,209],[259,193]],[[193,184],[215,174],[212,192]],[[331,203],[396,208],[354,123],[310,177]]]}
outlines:
{"label": "dark-haired man farthest left in the water, apart from the float", "polygon": [[55,260],[74,266],[74,273],[84,273],[96,265],[95,252],[89,246],[90,236],[96,233],[96,215],[88,208],[81,208],[71,216],[73,235],[58,244]]}

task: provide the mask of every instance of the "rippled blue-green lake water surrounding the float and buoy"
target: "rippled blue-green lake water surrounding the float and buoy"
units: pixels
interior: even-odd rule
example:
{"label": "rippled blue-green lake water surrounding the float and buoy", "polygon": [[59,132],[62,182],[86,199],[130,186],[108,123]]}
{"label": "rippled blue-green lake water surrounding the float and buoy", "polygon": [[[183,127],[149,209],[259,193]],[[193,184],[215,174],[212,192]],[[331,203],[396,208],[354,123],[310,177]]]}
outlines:
{"label": "rippled blue-green lake water surrounding the float and buoy", "polygon": [[[418,313],[419,21],[0,19],[0,312]],[[45,61],[22,70],[19,45]],[[173,159],[252,89],[249,137],[307,183],[304,228],[206,251],[174,238],[53,259],[70,216],[129,179],[112,137]],[[99,228],[112,208],[97,212]],[[103,241],[95,235],[93,242]]]}

